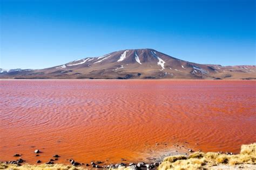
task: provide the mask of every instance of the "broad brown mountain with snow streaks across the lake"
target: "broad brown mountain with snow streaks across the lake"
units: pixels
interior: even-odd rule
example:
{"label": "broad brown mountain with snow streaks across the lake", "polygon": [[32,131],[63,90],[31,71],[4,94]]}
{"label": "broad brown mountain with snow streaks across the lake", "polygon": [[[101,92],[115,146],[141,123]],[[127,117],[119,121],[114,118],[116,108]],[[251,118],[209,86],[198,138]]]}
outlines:
{"label": "broad brown mountain with snow streaks across the lake", "polygon": [[201,65],[154,49],[125,49],[51,68],[1,72],[0,79],[256,79],[255,73],[256,66]]}

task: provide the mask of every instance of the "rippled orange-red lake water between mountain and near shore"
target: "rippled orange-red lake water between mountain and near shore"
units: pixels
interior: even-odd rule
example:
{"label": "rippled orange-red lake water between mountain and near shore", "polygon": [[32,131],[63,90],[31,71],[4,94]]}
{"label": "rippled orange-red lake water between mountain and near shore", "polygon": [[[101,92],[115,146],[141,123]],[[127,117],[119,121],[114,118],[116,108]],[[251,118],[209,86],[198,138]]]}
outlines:
{"label": "rippled orange-red lake water between mountain and near shore", "polygon": [[[145,160],[156,143],[239,152],[256,141],[256,81],[1,80],[0,161]],[[186,142],[186,143],[185,143]],[[196,145],[198,143],[198,145]],[[43,151],[35,157],[33,151]],[[159,149],[160,150],[160,149]],[[160,152],[159,152],[160,154]]]}

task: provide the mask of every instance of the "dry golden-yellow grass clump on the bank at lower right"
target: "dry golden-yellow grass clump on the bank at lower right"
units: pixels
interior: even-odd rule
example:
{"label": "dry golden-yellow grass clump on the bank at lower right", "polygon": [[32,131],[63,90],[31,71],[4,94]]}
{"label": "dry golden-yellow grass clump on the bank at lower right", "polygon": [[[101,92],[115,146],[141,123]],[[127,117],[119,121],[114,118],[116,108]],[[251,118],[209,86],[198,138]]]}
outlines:
{"label": "dry golden-yellow grass clump on the bank at lower right", "polygon": [[202,169],[219,165],[252,165],[256,167],[256,143],[242,145],[240,154],[227,155],[215,152],[196,152],[187,158],[184,155],[167,157],[158,169]]}

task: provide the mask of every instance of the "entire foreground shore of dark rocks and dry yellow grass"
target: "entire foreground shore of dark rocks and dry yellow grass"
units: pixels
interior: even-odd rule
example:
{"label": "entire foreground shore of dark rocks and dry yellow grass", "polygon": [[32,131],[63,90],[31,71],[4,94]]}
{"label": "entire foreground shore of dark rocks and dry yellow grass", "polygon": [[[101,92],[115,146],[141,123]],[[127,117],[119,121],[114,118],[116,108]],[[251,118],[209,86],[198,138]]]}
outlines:
{"label": "entire foreground shore of dark rocks and dry yellow grass", "polygon": [[[15,154],[17,159],[1,162],[0,169],[256,169],[256,143],[242,145],[239,154],[222,153],[222,152],[194,152],[191,154],[171,155],[164,158],[163,161],[156,161],[151,164],[145,162],[124,162],[119,164],[104,164],[103,161],[92,161],[90,164],[77,162],[74,159],[67,160],[70,165],[56,164],[61,156],[55,154],[52,158],[41,165],[29,165],[22,159],[21,154]],[[35,150],[36,156],[41,151]],[[41,160],[37,161],[40,164]]]}

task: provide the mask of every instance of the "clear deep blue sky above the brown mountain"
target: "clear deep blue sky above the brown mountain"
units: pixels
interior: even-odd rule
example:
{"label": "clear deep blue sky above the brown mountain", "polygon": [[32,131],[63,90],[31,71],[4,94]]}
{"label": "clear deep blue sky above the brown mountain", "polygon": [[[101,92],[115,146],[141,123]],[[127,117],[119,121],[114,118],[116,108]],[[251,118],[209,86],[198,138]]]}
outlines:
{"label": "clear deep blue sky above the brown mountain", "polygon": [[0,1],[0,68],[46,68],[133,48],[255,65],[254,0]]}

